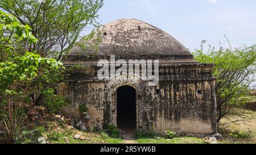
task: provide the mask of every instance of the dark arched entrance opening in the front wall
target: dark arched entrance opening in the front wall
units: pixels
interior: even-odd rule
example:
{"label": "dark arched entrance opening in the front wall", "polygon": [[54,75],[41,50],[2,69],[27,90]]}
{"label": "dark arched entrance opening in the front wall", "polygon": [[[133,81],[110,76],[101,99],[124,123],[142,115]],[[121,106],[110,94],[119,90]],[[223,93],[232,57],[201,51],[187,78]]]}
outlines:
{"label": "dark arched entrance opening in the front wall", "polygon": [[136,90],[131,86],[117,89],[117,127],[124,131],[136,129]]}

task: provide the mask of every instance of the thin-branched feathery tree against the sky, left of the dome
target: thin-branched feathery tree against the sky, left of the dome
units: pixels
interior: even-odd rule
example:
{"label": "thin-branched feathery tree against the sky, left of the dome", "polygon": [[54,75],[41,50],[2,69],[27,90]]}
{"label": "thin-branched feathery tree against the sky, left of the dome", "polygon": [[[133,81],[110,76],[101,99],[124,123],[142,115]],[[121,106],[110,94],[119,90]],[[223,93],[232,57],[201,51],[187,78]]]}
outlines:
{"label": "thin-branched feathery tree against the sky, left of the dome", "polygon": [[42,57],[61,60],[82,31],[97,26],[97,11],[103,0],[1,0],[0,8],[31,27],[38,42],[26,46]]}

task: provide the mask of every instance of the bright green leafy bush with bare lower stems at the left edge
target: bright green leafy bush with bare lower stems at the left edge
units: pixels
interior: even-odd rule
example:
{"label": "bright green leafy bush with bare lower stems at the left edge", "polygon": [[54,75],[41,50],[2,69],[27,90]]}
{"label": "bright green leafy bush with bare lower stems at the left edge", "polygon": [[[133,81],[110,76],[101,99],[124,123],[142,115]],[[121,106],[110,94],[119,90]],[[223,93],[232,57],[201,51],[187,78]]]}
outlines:
{"label": "bright green leafy bush with bare lower stems at the left edge", "polygon": [[8,143],[20,141],[29,112],[24,105],[34,103],[44,90],[63,78],[60,61],[23,47],[36,44],[30,30],[13,15],[0,11],[0,130]]}

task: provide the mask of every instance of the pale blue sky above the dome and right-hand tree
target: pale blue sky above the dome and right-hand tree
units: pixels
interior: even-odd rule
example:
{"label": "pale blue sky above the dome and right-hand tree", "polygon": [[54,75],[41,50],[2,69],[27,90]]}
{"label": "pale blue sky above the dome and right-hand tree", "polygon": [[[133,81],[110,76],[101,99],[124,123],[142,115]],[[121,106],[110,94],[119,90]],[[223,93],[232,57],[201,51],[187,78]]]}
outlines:
{"label": "pale blue sky above the dome and right-hand tree", "polygon": [[99,21],[135,18],[152,24],[191,51],[201,40],[218,47],[256,43],[255,0],[105,0]]}

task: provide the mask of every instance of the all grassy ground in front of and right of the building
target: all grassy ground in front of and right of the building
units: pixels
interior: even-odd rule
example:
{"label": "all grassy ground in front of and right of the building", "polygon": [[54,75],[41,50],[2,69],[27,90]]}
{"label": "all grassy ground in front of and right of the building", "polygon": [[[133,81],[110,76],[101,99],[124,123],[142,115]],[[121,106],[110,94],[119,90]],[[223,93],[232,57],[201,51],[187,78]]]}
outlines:
{"label": "all grassy ground in front of and right of the building", "polygon": [[[243,98],[247,100],[244,104],[254,104],[255,96],[248,96]],[[250,102],[249,102],[250,101]],[[242,104],[243,105],[243,104]],[[243,121],[238,121],[236,124],[229,124],[225,127],[219,128],[224,140],[218,141],[218,143],[256,143],[256,113],[255,110],[248,110],[243,108],[235,108],[236,112],[243,115],[249,116],[250,119],[245,119]],[[229,116],[228,120],[239,120],[237,116]],[[225,122],[227,119],[222,119],[221,122]],[[85,140],[74,139],[74,135],[79,131]],[[77,129],[68,129],[67,124],[63,122],[55,122],[53,120],[48,121],[48,127],[33,127],[27,128],[23,131],[23,141],[22,143],[37,143],[37,139],[40,136],[46,135],[47,141],[49,143],[61,143],[67,144],[64,137],[67,137],[69,144],[81,144],[81,143],[123,143],[121,138],[112,138],[108,136],[107,133],[98,131],[93,132],[83,132]],[[138,131],[135,137],[137,143],[143,144],[205,144],[205,139],[197,137],[189,137],[186,135],[180,135],[180,137],[174,137],[172,139],[167,139],[166,136],[160,136],[155,132],[148,131]]]}

